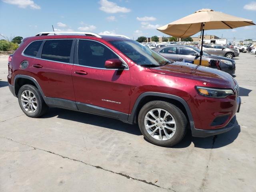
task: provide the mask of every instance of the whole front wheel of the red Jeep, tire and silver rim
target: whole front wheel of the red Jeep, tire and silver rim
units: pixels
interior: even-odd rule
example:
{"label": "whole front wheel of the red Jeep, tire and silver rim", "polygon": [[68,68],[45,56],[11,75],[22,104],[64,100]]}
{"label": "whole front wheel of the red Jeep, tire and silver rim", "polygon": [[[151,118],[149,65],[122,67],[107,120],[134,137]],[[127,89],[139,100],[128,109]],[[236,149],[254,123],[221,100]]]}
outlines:
{"label": "whole front wheel of the red Jeep, tire and silver rim", "polygon": [[177,106],[164,101],[151,101],[141,108],[138,124],[146,140],[170,147],[184,137],[187,119]]}

